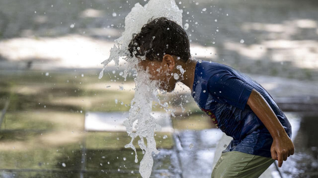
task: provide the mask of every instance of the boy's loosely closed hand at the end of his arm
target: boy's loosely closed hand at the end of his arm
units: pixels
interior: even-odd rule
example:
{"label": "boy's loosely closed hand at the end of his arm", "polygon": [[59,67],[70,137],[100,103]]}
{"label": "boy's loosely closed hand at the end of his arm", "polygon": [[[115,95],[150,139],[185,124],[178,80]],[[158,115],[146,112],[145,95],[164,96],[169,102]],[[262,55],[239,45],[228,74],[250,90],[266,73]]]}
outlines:
{"label": "boy's loosely closed hand at the end of his arm", "polygon": [[286,136],[274,138],[270,152],[272,159],[277,160],[278,167],[281,167],[283,160],[286,161],[287,157],[294,154],[294,144],[286,134]]}

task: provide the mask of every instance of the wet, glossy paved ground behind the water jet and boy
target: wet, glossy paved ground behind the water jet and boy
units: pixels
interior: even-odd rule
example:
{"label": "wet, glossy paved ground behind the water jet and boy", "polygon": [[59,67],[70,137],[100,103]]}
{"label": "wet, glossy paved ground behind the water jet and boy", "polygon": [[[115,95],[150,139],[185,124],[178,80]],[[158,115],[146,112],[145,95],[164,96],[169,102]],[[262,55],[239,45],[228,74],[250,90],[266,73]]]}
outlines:
{"label": "wet, glossy paved ground behind the water jet and boy", "polygon": [[[130,137],[123,129],[110,129],[113,128],[111,125],[122,126],[119,119],[118,123],[114,121],[114,116],[118,116],[114,113],[127,114],[129,107],[125,105],[130,103],[134,92],[128,84],[120,90],[121,84],[111,82],[110,75],[105,75],[105,81],[99,81],[97,75],[90,72],[50,72],[48,75],[41,71],[0,73],[1,79],[6,78],[0,80],[0,107],[5,110],[0,127],[0,177],[140,177],[139,163],[134,163],[133,150],[124,148]],[[290,99],[297,93],[297,84],[305,86],[305,82],[282,78],[253,78],[262,81],[260,83],[275,100],[282,99],[279,96]],[[281,83],[284,90],[289,87],[292,90],[278,90],[279,87],[275,88],[277,83]],[[107,88],[109,85],[111,87]],[[307,84],[303,94],[315,94],[314,87]],[[152,178],[209,178],[218,150],[225,149],[227,143],[218,145],[222,133],[196,108],[193,100],[189,99],[189,103],[184,105],[187,110],[182,113],[178,100],[180,95],[187,96],[187,93],[160,96],[163,100],[175,101],[171,107],[176,109],[177,117],[172,117],[171,122],[168,119],[168,123],[163,121],[162,126],[170,129],[156,134],[160,153],[154,156]],[[10,102],[6,107],[7,101]],[[281,104],[284,103],[279,103],[279,106]],[[286,108],[289,106],[286,105]],[[164,111],[154,108],[154,112]],[[96,125],[104,122],[110,126],[102,130],[85,129],[89,115],[101,121],[92,124],[91,128],[97,128]],[[279,169],[280,174],[283,178],[314,178],[318,171],[318,114],[303,110],[286,115],[293,125],[296,149],[295,155]],[[138,145],[137,141],[135,145]],[[142,152],[137,149],[140,161]],[[270,167],[269,175],[281,178],[274,165]]]}

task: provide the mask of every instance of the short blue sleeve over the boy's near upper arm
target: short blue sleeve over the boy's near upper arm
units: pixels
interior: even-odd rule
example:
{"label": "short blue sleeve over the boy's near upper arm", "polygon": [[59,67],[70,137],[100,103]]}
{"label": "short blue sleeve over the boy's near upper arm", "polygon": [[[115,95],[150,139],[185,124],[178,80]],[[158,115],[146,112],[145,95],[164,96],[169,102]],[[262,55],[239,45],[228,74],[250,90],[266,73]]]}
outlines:
{"label": "short blue sleeve over the boy's near upper arm", "polygon": [[253,88],[239,77],[223,72],[208,80],[208,90],[212,96],[216,96],[216,100],[244,110]]}

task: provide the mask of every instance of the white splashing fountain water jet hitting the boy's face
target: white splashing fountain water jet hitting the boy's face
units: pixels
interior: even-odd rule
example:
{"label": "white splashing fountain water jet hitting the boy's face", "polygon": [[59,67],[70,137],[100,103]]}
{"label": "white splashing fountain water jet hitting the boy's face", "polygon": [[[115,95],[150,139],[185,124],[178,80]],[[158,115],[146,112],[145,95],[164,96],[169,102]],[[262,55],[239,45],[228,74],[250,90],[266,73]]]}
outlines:
{"label": "white splashing fountain water jet hitting the boy's face", "polygon": [[[154,117],[151,116],[152,103],[156,101],[164,108],[166,112],[171,112],[174,116],[173,110],[168,109],[167,103],[161,104],[158,99],[158,81],[149,80],[148,71],[143,71],[138,68],[138,61],[136,57],[131,57],[128,51],[128,45],[132,39],[132,34],[137,34],[141,31],[143,25],[145,25],[149,19],[158,17],[166,17],[175,21],[182,27],[182,10],[178,8],[174,0],[149,0],[149,2],[142,6],[136,3],[131,12],[125,17],[125,31],[122,36],[115,40],[115,45],[110,50],[110,56],[104,60],[104,68],[99,73],[99,79],[102,78],[103,72],[107,64],[114,60],[115,67],[119,67],[119,59],[126,60],[129,65],[125,65],[126,68],[121,75],[125,78],[127,75],[131,75],[129,70],[136,70],[137,76],[135,77],[135,96],[131,101],[129,110],[129,117],[124,121],[127,133],[131,136],[131,142],[125,145],[125,148],[132,148],[135,151],[135,162],[138,162],[136,147],[133,145],[135,138],[139,137],[138,145],[143,151],[144,157],[140,162],[139,172],[143,178],[149,178],[153,167],[152,154],[158,154],[159,151],[156,148],[155,131],[160,130],[160,126],[156,123]],[[145,59],[145,57],[143,58]],[[178,68],[180,71],[182,67]],[[175,77],[179,77],[175,76]],[[136,132],[133,132],[133,123],[138,120],[135,125]],[[147,140],[147,146],[144,138]]]}

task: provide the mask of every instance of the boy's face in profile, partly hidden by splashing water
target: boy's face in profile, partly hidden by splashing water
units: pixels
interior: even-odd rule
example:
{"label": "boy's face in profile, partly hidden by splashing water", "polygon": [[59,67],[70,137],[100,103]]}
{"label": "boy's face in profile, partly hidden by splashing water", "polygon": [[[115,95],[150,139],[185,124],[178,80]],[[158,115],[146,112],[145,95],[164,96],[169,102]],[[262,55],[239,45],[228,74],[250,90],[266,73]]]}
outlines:
{"label": "boy's face in profile, partly hidden by splashing water", "polygon": [[148,73],[151,75],[151,80],[159,81],[159,89],[166,90],[171,92],[175,88],[176,80],[171,76],[172,68],[174,68],[171,63],[167,63],[165,59],[160,61],[151,61],[151,60],[141,60],[138,63],[145,71],[148,69]]}

